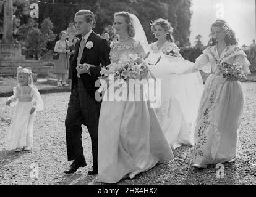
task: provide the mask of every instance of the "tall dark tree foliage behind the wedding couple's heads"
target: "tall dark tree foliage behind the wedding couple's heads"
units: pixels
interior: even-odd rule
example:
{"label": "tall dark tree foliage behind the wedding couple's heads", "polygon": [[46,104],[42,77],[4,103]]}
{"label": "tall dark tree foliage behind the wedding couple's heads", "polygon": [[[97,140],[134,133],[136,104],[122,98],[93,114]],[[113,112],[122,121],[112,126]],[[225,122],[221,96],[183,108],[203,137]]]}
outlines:
{"label": "tall dark tree foliage behind the wedding couple's heads", "polygon": [[[166,18],[171,22],[174,30],[173,36],[180,47],[189,46],[190,36],[190,6],[192,0],[41,0],[39,5],[39,18],[33,18],[42,23],[47,17],[53,22],[53,32],[59,34],[66,30],[70,22],[74,22],[74,15],[80,9],[92,10],[96,15],[94,31],[102,34],[113,24],[115,12],[127,11],[137,15],[147,34],[148,42],[156,41],[149,23],[157,18]],[[32,3],[33,1],[30,1]],[[36,1],[35,1],[36,2]],[[14,0],[14,15],[20,18],[20,25],[28,22],[29,5],[26,0]],[[0,7],[1,9],[1,7]],[[0,14],[1,26],[1,14]],[[58,39],[58,38],[57,38]],[[54,42],[49,43],[49,49]]]}

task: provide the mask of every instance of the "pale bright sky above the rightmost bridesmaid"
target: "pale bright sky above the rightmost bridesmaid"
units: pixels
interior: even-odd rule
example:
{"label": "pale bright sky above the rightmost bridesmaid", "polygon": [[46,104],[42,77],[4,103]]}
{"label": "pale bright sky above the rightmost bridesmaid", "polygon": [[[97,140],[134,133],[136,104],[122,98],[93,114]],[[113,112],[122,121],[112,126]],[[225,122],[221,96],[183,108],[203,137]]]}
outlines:
{"label": "pale bright sky above the rightmost bridesmaid", "polygon": [[256,39],[256,0],[192,0],[190,42],[194,46],[195,36],[207,45],[210,26],[216,19],[224,19],[234,30],[238,45],[249,46]]}

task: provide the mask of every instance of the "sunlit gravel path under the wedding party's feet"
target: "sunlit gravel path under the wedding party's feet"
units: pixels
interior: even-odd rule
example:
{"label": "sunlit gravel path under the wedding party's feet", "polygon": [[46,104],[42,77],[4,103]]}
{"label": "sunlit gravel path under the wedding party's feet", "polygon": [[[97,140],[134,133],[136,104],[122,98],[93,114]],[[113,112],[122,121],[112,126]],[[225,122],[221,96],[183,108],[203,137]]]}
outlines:
{"label": "sunlit gravel path under the wedding party's feet", "polygon": [[[162,162],[135,179],[119,184],[256,184],[256,83],[244,82],[246,103],[244,119],[239,127],[237,160],[224,164],[224,177],[216,178],[215,166],[192,168],[192,147],[174,151],[175,159]],[[0,185],[2,184],[100,184],[96,175],[87,175],[92,166],[90,136],[83,127],[83,147],[87,166],[74,175],[63,170],[70,165],[66,156],[64,120],[70,93],[43,94],[45,109],[38,112],[34,126],[32,151],[5,151],[7,128],[13,109],[6,108],[6,98],[0,98]],[[38,177],[33,166],[38,166]],[[34,175],[34,176],[33,176]],[[31,178],[35,177],[34,179]],[[37,179],[36,179],[37,178]]]}

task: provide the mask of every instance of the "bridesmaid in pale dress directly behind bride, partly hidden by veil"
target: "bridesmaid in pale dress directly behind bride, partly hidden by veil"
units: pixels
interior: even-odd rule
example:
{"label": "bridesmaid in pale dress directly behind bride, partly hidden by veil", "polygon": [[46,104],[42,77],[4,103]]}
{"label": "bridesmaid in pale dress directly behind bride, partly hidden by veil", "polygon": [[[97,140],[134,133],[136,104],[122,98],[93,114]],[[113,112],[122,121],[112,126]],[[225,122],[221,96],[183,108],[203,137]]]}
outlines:
{"label": "bridesmaid in pale dress directly behind bride, partly hidden by veil", "polygon": [[184,60],[179,48],[171,36],[173,28],[164,19],[155,20],[151,30],[158,39],[150,45],[155,55],[162,58],[150,70],[157,79],[161,79],[162,94],[156,114],[163,132],[174,150],[181,145],[194,145],[194,123],[197,118],[200,98],[203,92],[203,80],[199,73],[182,73],[194,63]]}

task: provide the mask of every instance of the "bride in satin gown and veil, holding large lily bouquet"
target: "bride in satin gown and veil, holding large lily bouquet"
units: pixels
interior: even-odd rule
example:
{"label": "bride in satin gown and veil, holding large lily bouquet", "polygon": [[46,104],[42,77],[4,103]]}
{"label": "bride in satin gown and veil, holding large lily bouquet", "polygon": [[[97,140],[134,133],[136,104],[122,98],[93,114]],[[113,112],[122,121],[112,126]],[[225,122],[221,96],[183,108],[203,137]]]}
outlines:
{"label": "bride in satin gown and veil, holding large lily bouquet", "polygon": [[[120,39],[111,46],[111,62],[118,62],[123,55],[145,56],[143,46],[147,45],[147,39],[135,15],[116,13],[114,28]],[[116,183],[126,176],[132,179],[158,161],[174,158],[150,102],[105,100],[106,92],[98,128],[99,182]],[[144,90],[140,92],[141,97],[145,94]]]}

